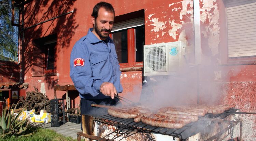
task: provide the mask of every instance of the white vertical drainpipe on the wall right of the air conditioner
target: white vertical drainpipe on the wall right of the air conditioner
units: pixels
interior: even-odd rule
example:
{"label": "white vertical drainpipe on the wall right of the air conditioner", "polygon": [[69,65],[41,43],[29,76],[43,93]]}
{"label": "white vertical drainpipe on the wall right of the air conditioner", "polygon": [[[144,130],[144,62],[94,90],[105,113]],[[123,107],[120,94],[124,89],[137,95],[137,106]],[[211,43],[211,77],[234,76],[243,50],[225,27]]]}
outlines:
{"label": "white vertical drainpipe on the wall right of the air conditioner", "polygon": [[197,65],[197,104],[199,104],[199,65],[201,64],[201,30],[200,30],[200,3],[193,0],[194,13],[194,40],[195,40],[195,64]]}

